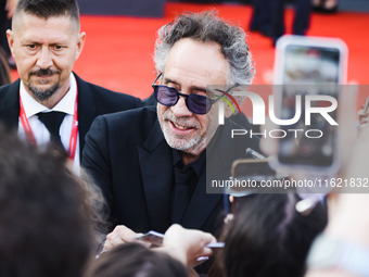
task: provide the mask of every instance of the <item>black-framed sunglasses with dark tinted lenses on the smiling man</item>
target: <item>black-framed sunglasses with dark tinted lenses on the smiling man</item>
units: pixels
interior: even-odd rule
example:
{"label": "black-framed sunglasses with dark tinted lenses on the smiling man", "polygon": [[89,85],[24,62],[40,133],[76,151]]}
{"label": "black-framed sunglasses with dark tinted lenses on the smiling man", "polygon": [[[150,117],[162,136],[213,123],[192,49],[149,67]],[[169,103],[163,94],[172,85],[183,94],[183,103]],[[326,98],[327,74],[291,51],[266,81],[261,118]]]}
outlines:
{"label": "black-framed sunglasses with dark tinted lenses on the smiling man", "polygon": [[216,100],[209,99],[205,96],[199,95],[184,95],[175,88],[169,88],[167,86],[155,85],[156,80],[162,76],[162,73],[157,75],[156,79],[152,84],[154,89],[154,96],[157,102],[162,105],[173,106],[177,104],[179,97],[186,98],[186,105],[192,113],[195,114],[206,114],[212,105],[220,99],[220,97]]}

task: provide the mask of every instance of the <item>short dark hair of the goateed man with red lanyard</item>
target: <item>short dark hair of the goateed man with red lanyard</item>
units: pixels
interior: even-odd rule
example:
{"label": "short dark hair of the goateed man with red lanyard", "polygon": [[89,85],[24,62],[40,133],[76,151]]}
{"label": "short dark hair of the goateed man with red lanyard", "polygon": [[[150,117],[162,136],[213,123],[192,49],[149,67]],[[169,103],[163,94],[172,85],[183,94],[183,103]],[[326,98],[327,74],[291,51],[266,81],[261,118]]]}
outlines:
{"label": "short dark hair of the goateed man with red lanyard", "polygon": [[79,9],[76,0],[20,0],[14,16],[20,12],[44,20],[69,15],[79,24]]}

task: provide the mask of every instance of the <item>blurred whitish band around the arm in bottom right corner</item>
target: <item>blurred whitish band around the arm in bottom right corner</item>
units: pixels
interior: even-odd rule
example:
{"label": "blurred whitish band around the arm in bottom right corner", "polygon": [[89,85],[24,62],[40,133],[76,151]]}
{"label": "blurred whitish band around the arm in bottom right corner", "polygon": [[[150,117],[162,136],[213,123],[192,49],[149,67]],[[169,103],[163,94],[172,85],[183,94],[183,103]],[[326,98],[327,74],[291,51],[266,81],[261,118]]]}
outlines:
{"label": "blurred whitish band around the arm in bottom right corner", "polygon": [[307,256],[309,269],[338,268],[369,277],[369,249],[358,243],[319,235]]}

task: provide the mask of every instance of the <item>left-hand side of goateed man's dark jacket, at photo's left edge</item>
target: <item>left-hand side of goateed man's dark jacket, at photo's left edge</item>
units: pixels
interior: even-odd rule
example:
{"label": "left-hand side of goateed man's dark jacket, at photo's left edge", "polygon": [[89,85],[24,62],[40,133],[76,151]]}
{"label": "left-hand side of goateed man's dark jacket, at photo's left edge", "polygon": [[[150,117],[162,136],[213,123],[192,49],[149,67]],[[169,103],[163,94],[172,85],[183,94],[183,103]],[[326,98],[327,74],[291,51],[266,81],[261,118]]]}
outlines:
{"label": "left-hand side of goateed man's dark jacket, at photo's left edge", "polygon": [[0,103],[1,121],[10,128],[17,128],[20,117],[20,79],[9,85],[7,95]]}

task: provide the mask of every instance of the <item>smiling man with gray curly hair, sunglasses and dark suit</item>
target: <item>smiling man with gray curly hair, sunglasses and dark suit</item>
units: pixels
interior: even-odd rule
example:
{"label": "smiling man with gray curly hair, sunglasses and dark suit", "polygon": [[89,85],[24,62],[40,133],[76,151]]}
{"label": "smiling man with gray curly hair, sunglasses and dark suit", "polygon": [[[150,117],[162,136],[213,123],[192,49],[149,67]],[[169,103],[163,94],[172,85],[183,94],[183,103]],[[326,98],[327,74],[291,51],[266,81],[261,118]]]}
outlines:
{"label": "smiling man with gray curly hair, sunglasses and dark suit", "polygon": [[[215,12],[184,13],[158,30],[154,61],[156,109],[100,116],[86,137],[82,165],[101,187],[117,225],[105,250],[136,232],[164,232],[174,223],[213,234],[221,223],[222,196],[205,192],[205,160],[227,178],[231,162],[220,161],[221,149],[206,155],[209,142],[227,136],[217,123],[220,98],[207,86],[251,84],[245,34]],[[254,139],[243,142],[258,149]],[[244,156],[244,148],[234,153]]]}

